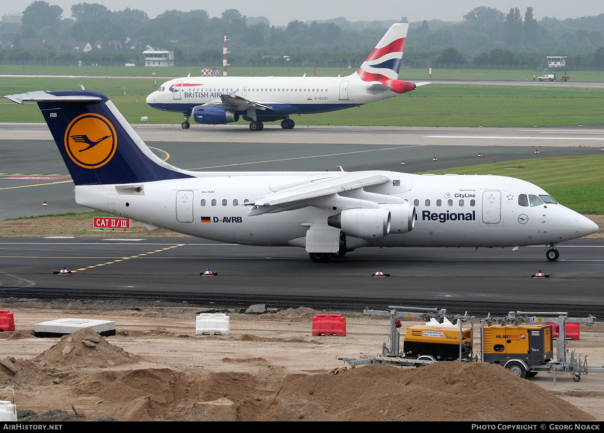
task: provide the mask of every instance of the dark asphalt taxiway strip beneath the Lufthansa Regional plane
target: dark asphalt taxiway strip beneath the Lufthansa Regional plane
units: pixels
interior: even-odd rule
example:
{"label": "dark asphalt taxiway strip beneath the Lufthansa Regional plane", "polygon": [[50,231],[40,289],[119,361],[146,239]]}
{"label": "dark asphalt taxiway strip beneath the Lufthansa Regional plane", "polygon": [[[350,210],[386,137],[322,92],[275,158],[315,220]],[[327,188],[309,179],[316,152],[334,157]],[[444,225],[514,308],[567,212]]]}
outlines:
{"label": "dark asphalt taxiway strip beneath the Lufthansa Regional plane", "polygon": [[[225,245],[193,238],[1,238],[2,298],[129,297],[193,304],[316,308],[448,307],[471,313],[604,312],[604,241],[506,249],[359,249],[316,264],[300,248]],[[62,266],[74,271],[56,275]],[[215,277],[199,275],[210,268]],[[391,277],[371,277],[377,269]],[[539,269],[550,278],[531,275]]]}

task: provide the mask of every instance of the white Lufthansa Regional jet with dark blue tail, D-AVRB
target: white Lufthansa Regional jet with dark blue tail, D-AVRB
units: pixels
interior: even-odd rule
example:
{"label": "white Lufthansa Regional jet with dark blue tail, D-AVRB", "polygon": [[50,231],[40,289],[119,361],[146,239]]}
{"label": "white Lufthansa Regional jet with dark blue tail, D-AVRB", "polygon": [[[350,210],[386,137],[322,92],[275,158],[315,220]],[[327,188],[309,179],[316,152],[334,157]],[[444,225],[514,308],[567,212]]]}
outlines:
{"label": "white Lufthansa Regional jet with dark blue tail, D-AVRB", "polygon": [[76,184],[76,202],[191,236],[305,248],[313,261],[362,246],[515,247],[598,226],[544,190],[503,176],[367,172],[191,172],[154,155],[93,91],[10,95],[36,101]]}

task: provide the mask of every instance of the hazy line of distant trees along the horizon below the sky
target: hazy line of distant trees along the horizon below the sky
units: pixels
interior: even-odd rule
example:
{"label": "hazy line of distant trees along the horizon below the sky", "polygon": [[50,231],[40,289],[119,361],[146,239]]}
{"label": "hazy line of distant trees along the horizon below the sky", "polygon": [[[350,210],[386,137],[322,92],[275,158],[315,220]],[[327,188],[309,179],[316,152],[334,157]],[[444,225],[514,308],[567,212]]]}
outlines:
{"label": "hazy line of distant trees along the horizon below the sky", "polygon": [[[174,50],[177,62],[216,62],[222,59],[223,31],[228,29],[229,55],[233,62],[254,62],[262,56],[289,56],[292,62],[350,62],[367,57],[392,22],[349,22],[345,18],[327,21],[294,20],[285,27],[270,25],[264,17],[248,18],[236,9],[210,17],[205,10],[167,10],[149,18],[143,10],[126,8],[111,11],[98,3],[71,7],[70,19],[63,10],[45,1],[34,1],[23,11],[22,26],[13,48],[0,50],[0,59],[24,56],[20,41],[43,40],[45,50],[26,50],[31,57],[69,57],[54,53],[60,41],[72,38],[93,43],[115,40],[86,53],[88,57],[134,59],[146,45]],[[461,22],[423,21],[410,24],[405,46],[405,62],[526,64],[539,65],[545,55],[568,56],[571,65],[604,66],[604,14],[579,19],[558,20],[533,17],[533,8],[524,13],[510,8],[477,7]],[[0,33],[5,33],[4,29]],[[50,51],[47,52],[47,51]],[[82,53],[76,53],[82,57]],[[22,58],[22,57],[21,57]],[[285,62],[285,60],[281,60]]]}

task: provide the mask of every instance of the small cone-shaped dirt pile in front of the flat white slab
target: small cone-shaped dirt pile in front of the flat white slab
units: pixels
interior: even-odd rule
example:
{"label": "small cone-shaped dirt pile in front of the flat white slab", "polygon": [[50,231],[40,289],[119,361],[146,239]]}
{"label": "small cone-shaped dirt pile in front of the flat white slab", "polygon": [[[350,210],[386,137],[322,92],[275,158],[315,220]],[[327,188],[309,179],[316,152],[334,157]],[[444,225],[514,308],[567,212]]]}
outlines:
{"label": "small cone-shaped dirt pile in front of the flat white slab", "polygon": [[89,328],[80,329],[63,336],[48,350],[43,351],[33,361],[42,366],[62,367],[109,367],[137,362],[138,358]]}

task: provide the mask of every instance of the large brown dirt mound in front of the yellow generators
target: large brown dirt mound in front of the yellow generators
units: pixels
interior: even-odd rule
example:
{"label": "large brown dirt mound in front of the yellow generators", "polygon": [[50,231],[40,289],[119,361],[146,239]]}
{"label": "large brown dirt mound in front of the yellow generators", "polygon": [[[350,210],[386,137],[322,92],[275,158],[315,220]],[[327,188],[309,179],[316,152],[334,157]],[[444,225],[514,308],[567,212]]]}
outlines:
{"label": "large brown dirt mound in front of the yellow generators", "polygon": [[[527,404],[530,402],[530,404]],[[368,365],[337,375],[286,377],[265,420],[579,421],[591,415],[503,367],[435,362]]]}

